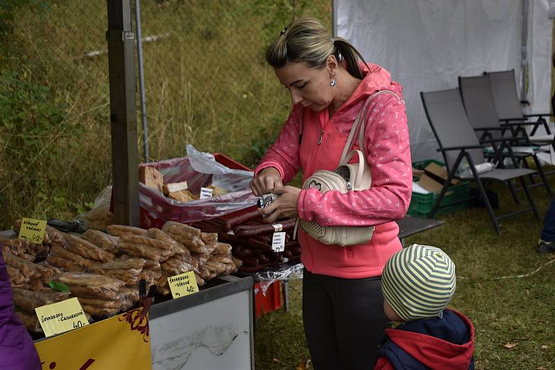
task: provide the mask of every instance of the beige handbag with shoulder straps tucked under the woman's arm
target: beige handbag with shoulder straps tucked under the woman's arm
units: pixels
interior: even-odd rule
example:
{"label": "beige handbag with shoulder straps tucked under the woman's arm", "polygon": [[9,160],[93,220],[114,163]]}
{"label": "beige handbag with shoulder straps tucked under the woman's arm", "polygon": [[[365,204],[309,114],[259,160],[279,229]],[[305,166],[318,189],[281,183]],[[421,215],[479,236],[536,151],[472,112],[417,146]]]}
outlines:
{"label": "beige handbag with shoulder straps tucked under the woman's arm", "polygon": [[[349,191],[361,191],[370,188],[372,185],[372,175],[370,173],[370,166],[366,163],[366,156],[364,155],[364,123],[366,122],[366,112],[368,111],[370,101],[372,101],[375,96],[382,93],[393,94],[401,100],[397,94],[389,90],[377,91],[370,96],[359,112],[355,123],[352,125],[347,143],[345,143],[345,148],[343,148],[339,166],[334,171],[316,171],[305,180],[305,184],[302,184],[303,189],[316,188],[321,193],[331,190],[347,193]],[[359,124],[359,148],[361,148],[362,151],[352,150],[348,152]],[[348,162],[355,155],[359,159],[358,163],[349,164]],[[342,247],[345,245],[366,244],[370,241],[374,232],[373,226],[322,226],[315,221],[309,222],[297,218],[295,233],[298,225],[300,225],[300,228],[305,231],[305,233],[319,242],[330,245],[341,245]]]}

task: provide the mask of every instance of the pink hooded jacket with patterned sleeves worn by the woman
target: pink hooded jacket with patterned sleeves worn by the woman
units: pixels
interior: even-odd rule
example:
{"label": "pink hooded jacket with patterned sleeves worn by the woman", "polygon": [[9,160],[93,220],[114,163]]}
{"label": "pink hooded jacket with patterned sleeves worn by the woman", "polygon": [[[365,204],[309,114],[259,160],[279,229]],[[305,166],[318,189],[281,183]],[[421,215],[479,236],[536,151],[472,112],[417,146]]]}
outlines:
{"label": "pink hooded jacket with patterned sleeves worn by the woman", "polygon": [[[361,67],[364,80],[331,117],[327,109],[313,112],[300,104],[293,106],[278,140],[266,152],[255,175],[264,168],[275,167],[287,183],[300,168],[306,179],[316,170],[334,170],[338,166],[350,128],[366,99],[383,89],[402,96],[401,85],[391,80],[388,71],[377,64],[361,64]],[[348,279],[379,276],[388,258],[401,249],[399,227],[392,221],[400,220],[407,213],[412,191],[404,104],[393,94],[376,96],[368,108],[365,130],[372,187],[346,194],[302,190],[297,211],[301,219],[323,226],[375,225],[373,237],[366,245],[340,247],[320,243],[299,228],[301,261],[313,274]],[[358,143],[352,148],[358,149]]]}

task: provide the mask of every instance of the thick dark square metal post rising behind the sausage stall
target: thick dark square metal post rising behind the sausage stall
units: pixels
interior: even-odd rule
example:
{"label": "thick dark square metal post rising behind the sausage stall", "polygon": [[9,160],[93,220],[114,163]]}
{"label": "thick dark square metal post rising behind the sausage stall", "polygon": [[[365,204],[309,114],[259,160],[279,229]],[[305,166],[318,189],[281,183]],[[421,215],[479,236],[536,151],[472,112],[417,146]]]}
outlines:
{"label": "thick dark square metal post rising behind the sausage stall", "polygon": [[112,127],[112,202],[118,224],[139,226],[137,83],[130,0],[108,3],[108,74]]}

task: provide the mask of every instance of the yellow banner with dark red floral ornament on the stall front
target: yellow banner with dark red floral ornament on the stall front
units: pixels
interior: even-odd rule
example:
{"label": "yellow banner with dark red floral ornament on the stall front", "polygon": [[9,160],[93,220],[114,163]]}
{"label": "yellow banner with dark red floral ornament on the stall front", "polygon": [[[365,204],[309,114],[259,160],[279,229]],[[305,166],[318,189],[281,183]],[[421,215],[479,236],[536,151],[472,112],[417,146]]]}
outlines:
{"label": "yellow banner with dark red floral ornament on the stall front", "polygon": [[141,308],[35,343],[43,370],[151,370]]}

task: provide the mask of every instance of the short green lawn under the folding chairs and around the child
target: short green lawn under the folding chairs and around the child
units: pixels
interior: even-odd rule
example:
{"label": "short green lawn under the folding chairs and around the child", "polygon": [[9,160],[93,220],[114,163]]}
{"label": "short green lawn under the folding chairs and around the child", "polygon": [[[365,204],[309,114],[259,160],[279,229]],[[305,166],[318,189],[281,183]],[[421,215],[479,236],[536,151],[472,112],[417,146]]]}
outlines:
{"label": "short green lawn under the folding chairs and around the child", "polygon": [[[549,178],[555,188],[554,175]],[[493,190],[503,204],[497,212],[516,209],[506,188]],[[533,188],[532,193],[543,217],[550,201],[545,188]],[[524,195],[519,194],[522,205]],[[445,222],[442,227],[405,241],[441,247],[456,264],[459,279],[450,307],[475,325],[477,369],[554,369],[555,263],[531,276],[493,279],[528,274],[555,259],[555,254],[535,250],[543,222],[524,213],[502,220],[497,236],[486,209],[471,208],[439,219]],[[302,331],[301,290],[301,281],[291,281],[289,312],[270,312],[257,320],[257,369],[296,369],[310,358]],[[516,346],[509,350],[504,348],[507,343]]]}

